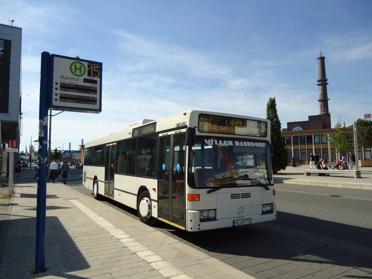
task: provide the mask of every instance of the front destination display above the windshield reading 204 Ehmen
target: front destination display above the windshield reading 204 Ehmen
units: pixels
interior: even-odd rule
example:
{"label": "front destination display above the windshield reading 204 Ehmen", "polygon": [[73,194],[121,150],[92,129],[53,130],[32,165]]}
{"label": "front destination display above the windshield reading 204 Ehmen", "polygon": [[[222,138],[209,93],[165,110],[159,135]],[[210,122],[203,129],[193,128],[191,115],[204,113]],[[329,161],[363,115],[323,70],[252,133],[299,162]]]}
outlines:
{"label": "front destination display above the windshield reading 204 Ehmen", "polygon": [[267,137],[267,122],[199,114],[198,131],[204,133]]}

